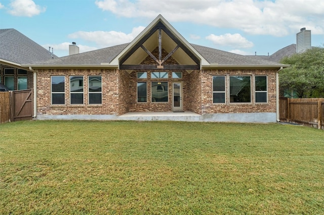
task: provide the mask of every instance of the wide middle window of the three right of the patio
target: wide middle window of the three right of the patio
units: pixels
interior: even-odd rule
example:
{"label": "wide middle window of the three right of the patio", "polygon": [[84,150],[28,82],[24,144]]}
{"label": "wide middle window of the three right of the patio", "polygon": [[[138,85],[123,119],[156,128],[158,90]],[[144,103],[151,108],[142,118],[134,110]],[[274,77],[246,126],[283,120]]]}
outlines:
{"label": "wide middle window of the three right of the patio", "polygon": [[251,76],[229,77],[230,102],[251,102]]}

